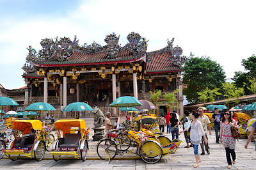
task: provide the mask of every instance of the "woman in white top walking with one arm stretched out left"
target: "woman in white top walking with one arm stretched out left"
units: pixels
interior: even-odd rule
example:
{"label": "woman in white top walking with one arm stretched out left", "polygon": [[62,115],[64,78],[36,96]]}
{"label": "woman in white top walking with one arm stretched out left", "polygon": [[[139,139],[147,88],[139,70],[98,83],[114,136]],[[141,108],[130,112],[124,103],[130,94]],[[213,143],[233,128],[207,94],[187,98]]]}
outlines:
{"label": "woman in white top walking with one arm stretched out left", "polygon": [[198,118],[199,115],[200,114],[193,111],[193,113],[191,114],[192,120],[191,120],[189,127],[185,128],[184,130],[179,132],[179,133],[182,133],[182,132],[188,131],[190,128],[190,141],[193,144],[194,154],[196,157],[196,164],[193,167],[198,167],[199,162],[201,162],[201,158],[198,154],[198,146],[201,143],[202,136],[204,136],[204,142],[205,142],[205,144],[207,144],[207,140],[205,137],[205,133],[204,133],[202,124],[200,121],[196,120],[196,118]]}

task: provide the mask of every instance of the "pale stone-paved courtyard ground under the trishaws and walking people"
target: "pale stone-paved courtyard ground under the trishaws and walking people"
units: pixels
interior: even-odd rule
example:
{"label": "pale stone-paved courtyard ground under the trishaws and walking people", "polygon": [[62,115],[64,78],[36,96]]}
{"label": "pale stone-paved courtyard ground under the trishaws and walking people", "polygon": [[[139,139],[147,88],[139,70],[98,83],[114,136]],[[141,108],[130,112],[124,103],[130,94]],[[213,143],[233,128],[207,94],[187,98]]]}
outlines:
{"label": "pale stone-paved courtyard ground under the trishaws and walking people", "polygon": [[[93,118],[86,118],[87,127],[91,128],[90,141],[87,159],[81,160],[52,160],[51,154],[46,153],[44,160],[36,162],[33,159],[26,160],[9,160],[4,157],[0,160],[0,169],[195,169],[195,155],[193,148],[184,148],[185,143],[180,144],[180,148],[175,154],[163,157],[157,164],[145,164],[140,157],[131,154],[117,156],[115,160],[108,162],[100,160],[96,152],[97,142],[92,141],[93,135]],[[167,135],[172,139],[172,135]],[[184,141],[184,134],[179,135],[179,139]],[[254,144],[250,143],[248,149],[244,149],[246,139],[239,139],[236,144],[236,164],[232,169],[256,169],[256,151]],[[225,157],[225,149],[222,144],[215,143],[215,134],[209,135],[210,155],[202,155],[202,162],[196,169],[227,169],[227,160]],[[199,147],[200,148],[200,147]],[[201,151],[200,151],[201,153]]]}

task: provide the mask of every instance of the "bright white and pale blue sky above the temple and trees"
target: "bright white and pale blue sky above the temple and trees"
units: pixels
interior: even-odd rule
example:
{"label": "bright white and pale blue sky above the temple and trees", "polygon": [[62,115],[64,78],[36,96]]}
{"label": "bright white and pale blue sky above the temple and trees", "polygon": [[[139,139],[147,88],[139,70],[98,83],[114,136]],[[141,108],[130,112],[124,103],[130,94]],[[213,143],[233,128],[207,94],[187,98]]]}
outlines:
{"label": "bright white and pale blue sky above the temple and trees", "polygon": [[148,51],[174,45],[189,56],[210,56],[227,78],[243,71],[243,58],[256,53],[255,1],[28,1],[0,0],[0,84],[24,86],[21,69],[29,45],[41,49],[43,38],[77,35],[79,43],[105,45],[109,33],[127,43],[132,31],[148,40]]}

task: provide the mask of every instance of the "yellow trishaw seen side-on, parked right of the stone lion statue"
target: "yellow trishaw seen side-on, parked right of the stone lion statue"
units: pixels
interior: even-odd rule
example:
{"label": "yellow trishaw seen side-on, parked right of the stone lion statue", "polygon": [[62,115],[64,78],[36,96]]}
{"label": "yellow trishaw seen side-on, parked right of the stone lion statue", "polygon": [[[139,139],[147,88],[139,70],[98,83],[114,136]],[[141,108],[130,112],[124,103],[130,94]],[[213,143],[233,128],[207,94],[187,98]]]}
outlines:
{"label": "yellow trishaw seen side-on, parked right of the stone lion statue", "polygon": [[[182,141],[170,141],[156,128],[156,117],[139,115],[129,130],[112,131],[97,144],[97,154],[103,160],[111,160],[116,154],[134,153],[148,164],[155,164],[165,155],[175,153]],[[138,128],[140,127],[140,128]],[[145,128],[142,128],[145,127]],[[136,130],[140,130],[139,132]],[[128,150],[131,146],[135,150]]]}

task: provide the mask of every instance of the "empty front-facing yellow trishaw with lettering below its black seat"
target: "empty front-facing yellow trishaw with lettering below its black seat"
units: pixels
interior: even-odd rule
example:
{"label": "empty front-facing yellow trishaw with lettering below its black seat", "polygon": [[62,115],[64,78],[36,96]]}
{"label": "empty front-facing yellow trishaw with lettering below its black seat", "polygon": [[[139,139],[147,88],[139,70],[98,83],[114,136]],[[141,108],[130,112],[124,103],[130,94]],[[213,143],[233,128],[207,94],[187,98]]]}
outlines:
{"label": "empty front-facing yellow trishaw with lettering below its black seat", "polygon": [[86,130],[85,121],[57,120],[54,125],[58,139],[52,144],[52,158],[55,161],[61,157],[86,160],[90,129]]}

